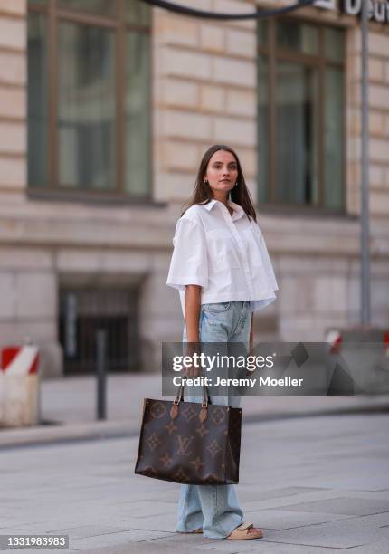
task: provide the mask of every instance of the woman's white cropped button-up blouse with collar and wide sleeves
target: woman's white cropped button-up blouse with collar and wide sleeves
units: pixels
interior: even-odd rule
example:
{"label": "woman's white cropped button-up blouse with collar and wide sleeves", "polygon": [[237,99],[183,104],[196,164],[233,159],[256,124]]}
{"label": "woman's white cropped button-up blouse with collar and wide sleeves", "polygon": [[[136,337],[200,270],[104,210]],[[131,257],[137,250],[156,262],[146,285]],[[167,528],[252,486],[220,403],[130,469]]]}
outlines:
{"label": "woman's white cropped button-up blouse with collar and wide sleeves", "polygon": [[279,287],[258,224],[241,205],[218,200],[192,205],[176,224],[166,284],[176,288],[185,314],[185,285],[202,287],[201,303],[251,301],[260,310]]}

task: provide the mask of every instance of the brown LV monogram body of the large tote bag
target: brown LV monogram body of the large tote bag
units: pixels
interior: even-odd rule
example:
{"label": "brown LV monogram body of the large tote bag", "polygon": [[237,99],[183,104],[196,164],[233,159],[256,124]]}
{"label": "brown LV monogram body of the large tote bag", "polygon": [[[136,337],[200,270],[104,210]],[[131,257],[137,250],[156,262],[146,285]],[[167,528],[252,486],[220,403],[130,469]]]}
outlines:
{"label": "brown LV monogram body of the large tote bag", "polygon": [[193,484],[239,482],[242,409],[147,398],[144,404],[135,473],[165,481]]}

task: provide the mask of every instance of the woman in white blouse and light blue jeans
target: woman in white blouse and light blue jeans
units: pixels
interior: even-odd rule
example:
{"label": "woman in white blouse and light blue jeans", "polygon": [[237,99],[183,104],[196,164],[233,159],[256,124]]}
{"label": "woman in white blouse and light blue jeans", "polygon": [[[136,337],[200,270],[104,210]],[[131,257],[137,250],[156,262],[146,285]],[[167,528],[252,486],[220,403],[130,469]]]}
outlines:
{"label": "woman in white blouse and light blue jeans", "polygon": [[[167,284],[180,293],[183,340],[241,342],[251,348],[252,312],[274,301],[278,286],[232,148],[214,145],[205,152],[173,244]],[[194,376],[195,368],[186,374]],[[211,400],[239,404],[239,398],[228,396]],[[176,530],[204,532],[210,539],[262,536],[260,529],[243,522],[234,485],[181,485]]]}

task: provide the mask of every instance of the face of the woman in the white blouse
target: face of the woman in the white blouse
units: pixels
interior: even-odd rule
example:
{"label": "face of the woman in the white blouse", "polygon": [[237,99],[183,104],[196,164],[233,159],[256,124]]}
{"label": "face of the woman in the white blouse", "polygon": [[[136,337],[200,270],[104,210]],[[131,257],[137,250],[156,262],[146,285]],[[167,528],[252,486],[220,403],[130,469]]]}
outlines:
{"label": "face of the woman in the white blouse", "polygon": [[213,194],[229,193],[238,178],[238,164],[231,152],[218,150],[208,162],[204,181],[208,181]]}

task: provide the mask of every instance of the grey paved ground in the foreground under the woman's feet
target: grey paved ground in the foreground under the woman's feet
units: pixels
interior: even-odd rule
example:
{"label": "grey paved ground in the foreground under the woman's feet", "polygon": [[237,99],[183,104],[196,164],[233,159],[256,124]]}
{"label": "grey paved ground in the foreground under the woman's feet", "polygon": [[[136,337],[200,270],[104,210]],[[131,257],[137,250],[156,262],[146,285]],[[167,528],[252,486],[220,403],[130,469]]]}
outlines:
{"label": "grey paved ground in the foreground under the woman's feet", "polygon": [[175,532],[179,485],[134,474],[138,437],[5,450],[0,534],[66,534],[85,554],[386,554],[388,435],[388,414],[245,425],[237,492],[264,537],[240,542]]}

